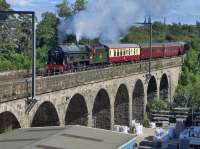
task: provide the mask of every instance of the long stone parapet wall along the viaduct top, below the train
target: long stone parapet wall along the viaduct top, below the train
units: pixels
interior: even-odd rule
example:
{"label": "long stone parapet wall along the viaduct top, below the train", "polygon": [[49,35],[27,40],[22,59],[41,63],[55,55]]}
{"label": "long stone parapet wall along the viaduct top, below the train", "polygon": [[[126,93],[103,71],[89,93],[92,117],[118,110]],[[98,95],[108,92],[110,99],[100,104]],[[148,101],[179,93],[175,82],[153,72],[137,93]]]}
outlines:
{"label": "long stone parapet wall along the viaduct top, below the train", "polygon": [[[151,61],[151,71],[162,70],[182,65],[182,57],[159,59]],[[149,62],[107,67],[63,75],[38,77],[37,95],[69,89],[86,84],[94,84],[116,78],[123,78],[133,74],[144,74],[149,71]],[[5,82],[0,84],[0,103],[30,97],[31,79]]]}

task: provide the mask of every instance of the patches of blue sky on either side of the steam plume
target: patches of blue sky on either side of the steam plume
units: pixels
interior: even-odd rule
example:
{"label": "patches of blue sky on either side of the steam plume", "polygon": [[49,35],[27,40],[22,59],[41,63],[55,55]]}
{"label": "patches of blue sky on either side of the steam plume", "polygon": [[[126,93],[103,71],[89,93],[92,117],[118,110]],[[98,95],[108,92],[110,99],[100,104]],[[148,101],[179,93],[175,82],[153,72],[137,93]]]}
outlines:
{"label": "patches of blue sky on either side of the steam plume", "polygon": [[[56,12],[56,4],[63,0],[7,0],[14,10],[33,10],[37,17],[41,20],[41,14],[46,11]],[[73,1],[73,0],[71,0]],[[174,0],[175,1],[175,0]],[[173,2],[172,2],[173,5]],[[166,11],[162,16],[152,18],[152,20],[164,20],[167,23],[184,23],[195,24],[196,20],[200,20],[200,0],[179,0],[172,10]],[[144,18],[140,18],[144,20]]]}

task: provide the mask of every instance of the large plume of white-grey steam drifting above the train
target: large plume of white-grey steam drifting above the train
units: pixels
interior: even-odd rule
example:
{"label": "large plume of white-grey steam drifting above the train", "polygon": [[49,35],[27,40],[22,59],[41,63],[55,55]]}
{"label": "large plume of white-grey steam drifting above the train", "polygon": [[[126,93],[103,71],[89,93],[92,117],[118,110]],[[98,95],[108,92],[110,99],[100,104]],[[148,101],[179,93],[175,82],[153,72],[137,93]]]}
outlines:
{"label": "large plume of white-grey steam drifting above the train", "polygon": [[166,4],[167,0],[91,0],[84,11],[61,22],[60,38],[75,35],[77,41],[84,37],[118,42],[141,17],[161,15]]}

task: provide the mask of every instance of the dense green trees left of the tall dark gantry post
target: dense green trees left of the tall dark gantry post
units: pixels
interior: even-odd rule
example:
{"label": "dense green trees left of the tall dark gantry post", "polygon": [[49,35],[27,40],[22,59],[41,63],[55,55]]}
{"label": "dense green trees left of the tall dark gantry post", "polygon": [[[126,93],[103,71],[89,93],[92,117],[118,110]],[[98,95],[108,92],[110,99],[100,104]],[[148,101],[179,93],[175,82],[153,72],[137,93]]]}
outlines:
{"label": "dense green trees left of the tall dark gantry post", "polygon": [[[5,0],[0,1],[0,9],[10,10]],[[31,16],[0,16],[0,71],[27,69],[31,64]]]}

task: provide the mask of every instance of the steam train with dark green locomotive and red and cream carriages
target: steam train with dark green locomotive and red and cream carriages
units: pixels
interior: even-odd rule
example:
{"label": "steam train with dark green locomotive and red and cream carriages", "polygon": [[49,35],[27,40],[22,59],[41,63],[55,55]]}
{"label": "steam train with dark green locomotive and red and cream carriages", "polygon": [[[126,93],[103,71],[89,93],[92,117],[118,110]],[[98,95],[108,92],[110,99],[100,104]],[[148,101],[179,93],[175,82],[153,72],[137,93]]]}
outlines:
{"label": "steam train with dark green locomotive and red and cream carriages", "polygon": [[149,44],[60,45],[48,51],[45,73],[176,57],[187,49],[186,42],[152,43],[151,48]]}

